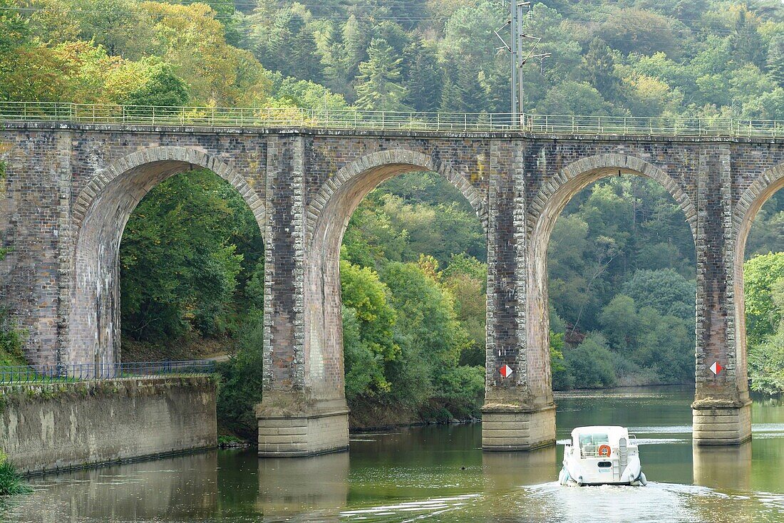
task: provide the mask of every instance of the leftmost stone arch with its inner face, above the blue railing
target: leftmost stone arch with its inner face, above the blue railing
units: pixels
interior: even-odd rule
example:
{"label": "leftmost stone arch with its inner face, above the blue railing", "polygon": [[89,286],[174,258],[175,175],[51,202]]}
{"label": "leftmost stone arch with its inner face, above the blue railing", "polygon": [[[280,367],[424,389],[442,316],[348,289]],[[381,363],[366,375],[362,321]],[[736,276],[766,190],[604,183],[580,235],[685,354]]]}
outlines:
{"label": "leftmost stone arch with its inner face, above the blue railing", "polygon": [[112,162],[89,180],[73,207],[68,363],[120,360],[119,248],[125,224],[153,187],[194,167],[210,169],[236,188],[263,231],[263,200],[234,169],[203,151],[151,147]]}

